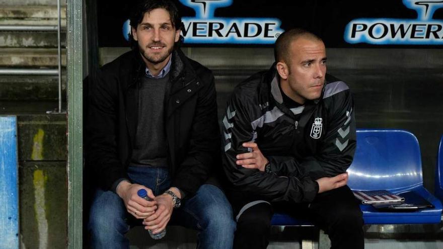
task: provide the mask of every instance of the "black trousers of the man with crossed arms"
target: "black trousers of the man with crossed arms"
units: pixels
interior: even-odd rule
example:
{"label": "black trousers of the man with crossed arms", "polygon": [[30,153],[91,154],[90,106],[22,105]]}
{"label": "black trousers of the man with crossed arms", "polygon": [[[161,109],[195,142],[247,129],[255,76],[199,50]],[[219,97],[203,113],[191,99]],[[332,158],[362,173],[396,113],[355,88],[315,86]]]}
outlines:
{"label": "black trousers of the man with crossed arms", "polygon": [[234,248],[266,248],[274,210],[294,217],[309,217],[329,235],[332,249],[364,248],[362,212],[347,186],[318,194],[311,204],[260,200],[263,199],[232,193],[237,218]]}

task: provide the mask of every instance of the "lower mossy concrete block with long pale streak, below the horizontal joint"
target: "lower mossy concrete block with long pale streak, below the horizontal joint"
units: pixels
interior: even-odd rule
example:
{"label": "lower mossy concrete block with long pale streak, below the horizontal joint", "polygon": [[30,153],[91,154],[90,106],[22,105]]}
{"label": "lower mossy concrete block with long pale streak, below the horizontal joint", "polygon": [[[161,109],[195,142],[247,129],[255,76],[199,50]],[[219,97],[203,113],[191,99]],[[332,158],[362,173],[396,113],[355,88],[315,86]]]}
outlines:
{"label": "lower mossy concrete block with long pale streak, below the horizontal joint", "polygon": [[65,248],[65,161],[19,162],[21,248]]}

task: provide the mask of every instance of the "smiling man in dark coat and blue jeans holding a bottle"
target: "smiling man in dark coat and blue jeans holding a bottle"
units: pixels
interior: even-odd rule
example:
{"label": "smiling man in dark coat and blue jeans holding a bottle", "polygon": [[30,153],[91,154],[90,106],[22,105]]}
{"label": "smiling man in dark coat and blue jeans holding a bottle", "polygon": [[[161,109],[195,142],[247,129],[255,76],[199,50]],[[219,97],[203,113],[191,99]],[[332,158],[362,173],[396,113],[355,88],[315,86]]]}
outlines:
{"label": "smiling man in dark coat and blue jeans holding a bottle", "polygon": [[91,87],[91,245],[128,248],[130,226],[143,224],[155,237],[171,220],[198,229],[199,248],[230,248],[231,206],[207,184],[219,165],[213,75],[177,47],[182,22],[171,1],[141,1],[130,25],[135,47],[104,65]]}

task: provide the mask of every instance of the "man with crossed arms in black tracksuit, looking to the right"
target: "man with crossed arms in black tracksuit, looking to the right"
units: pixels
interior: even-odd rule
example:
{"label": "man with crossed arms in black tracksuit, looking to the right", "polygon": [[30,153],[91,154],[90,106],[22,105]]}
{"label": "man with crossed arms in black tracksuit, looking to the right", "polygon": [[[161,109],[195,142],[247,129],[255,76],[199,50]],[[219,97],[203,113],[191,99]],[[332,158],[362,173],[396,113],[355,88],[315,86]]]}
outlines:
{"label": "man with crossed arms in black tracksuit, looking to the right", "polygon": [[310,217],[332,248],[363,248],[363,219],[346,186],[356,147],[347,85],[326,75],[322,40],[289,30],[275,63],[242,82],[223,120],[235,248],[265,248],[274,209]]}

